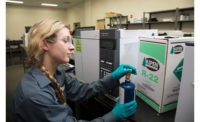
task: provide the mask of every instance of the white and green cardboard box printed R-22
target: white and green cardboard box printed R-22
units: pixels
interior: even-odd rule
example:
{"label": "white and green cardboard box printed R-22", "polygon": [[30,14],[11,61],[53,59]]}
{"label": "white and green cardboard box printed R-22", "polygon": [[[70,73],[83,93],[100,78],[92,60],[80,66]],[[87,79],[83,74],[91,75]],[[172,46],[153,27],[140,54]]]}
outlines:
{"label": "white and green cardboard box printed R-22", "polygon": [[185,42],[193,37],[141,37],[136,94],[159,113],[176,108]]}

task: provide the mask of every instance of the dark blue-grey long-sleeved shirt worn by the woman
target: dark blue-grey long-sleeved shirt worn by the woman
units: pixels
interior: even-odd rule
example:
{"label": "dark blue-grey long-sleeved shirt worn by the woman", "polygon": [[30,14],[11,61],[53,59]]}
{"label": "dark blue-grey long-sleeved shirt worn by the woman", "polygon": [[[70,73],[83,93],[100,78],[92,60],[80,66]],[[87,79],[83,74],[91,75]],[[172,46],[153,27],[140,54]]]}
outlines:
{"label": "dark blue-grey long-sleeved shirt worn by the woman", "polygon": [[[71,101],[86,100],[99,96],[119,85],[108,75],[91,83],[83,83],[57,68],[55,78],[61,84],[65,98]],[[16,88],[12,101],[12,114],[16,122],[76,122],[71,108],[61,105],[50,85],[51,81],[37,67],[32,67],[24,75]],[[79,120],[84,121],[84,120]],[[92,120],[94,122],[113,122],[112,112]]]}

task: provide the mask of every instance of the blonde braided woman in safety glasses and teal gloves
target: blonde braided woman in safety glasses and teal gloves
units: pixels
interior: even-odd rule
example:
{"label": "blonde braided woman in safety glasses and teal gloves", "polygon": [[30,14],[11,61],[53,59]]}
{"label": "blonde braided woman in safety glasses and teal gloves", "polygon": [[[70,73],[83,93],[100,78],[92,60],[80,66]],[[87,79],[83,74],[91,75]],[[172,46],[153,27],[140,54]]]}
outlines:
{"label": "blonde braided woman in safety glasses and teal gloves", "polygon": [[[43,20],[33,25],[28,34],[27,54],[32,67],[19,83],[12,101],[12,113],[17,122],[75,122],[72,110],[66,103],[86,100],[105,94],[119,86],[119,79],[126,73],[136,74],[136,69],[121,65],[112,74],[94,81],[82,83],[67,75],[59,67],[69,62],[74,46],[68,27],[56,20]],[[135,113],[136,101],[120,105],[96,118],[96,122],[112,122]],[[83,121],[83,120],[81,120]]]}

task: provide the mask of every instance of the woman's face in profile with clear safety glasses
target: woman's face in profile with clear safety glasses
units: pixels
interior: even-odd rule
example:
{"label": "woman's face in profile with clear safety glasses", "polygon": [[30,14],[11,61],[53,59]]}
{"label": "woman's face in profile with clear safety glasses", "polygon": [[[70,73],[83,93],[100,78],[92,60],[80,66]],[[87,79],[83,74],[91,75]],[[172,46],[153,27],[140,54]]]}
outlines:
{"label": "woman's face in profile with clear safety glasses", "polygon": [[73,50],[69,29],[63,28],[57,32],[55,43],[49,44],[48,54],[54,63],[63,64],[69,62]]}

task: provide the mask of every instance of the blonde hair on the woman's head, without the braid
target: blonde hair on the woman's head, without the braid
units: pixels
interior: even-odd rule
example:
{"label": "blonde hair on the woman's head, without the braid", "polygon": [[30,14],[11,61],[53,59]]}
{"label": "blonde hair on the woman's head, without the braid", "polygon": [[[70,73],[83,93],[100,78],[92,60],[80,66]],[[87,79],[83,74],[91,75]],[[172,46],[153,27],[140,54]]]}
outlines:
{"label": "blonde hair on the woman's head, without the braid", "polygon": [[27,55],[31,65],[41,65],[44,50],[41,48],[41,42],[54,43],[56,33],[62,28],[68,28],[58,20],[43,20],[33,25],[28,33]]}

